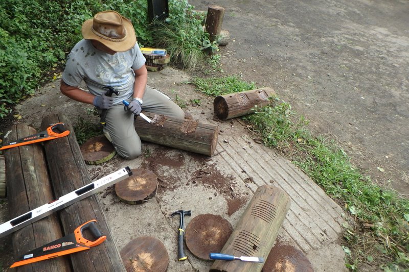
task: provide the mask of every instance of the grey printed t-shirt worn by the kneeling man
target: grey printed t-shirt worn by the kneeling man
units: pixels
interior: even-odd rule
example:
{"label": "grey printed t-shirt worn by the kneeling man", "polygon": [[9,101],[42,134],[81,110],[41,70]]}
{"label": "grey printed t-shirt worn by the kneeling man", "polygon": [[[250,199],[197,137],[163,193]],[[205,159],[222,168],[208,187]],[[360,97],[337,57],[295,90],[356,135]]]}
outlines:
{"label": "grey printed t-shirt worn by the kneeling man", "polygon": [[133,70],[141,68],[145,61],[138,43],[126,52],[109,55],[95,48],[90,40],[82,39],[67,57],[62,80],[73,87],[84,80],[94,95],[102,95],[107,91],[104,87],[110,86],[119,91],[119,95],[112,94],[113,105],[118,105],[133,94]]}

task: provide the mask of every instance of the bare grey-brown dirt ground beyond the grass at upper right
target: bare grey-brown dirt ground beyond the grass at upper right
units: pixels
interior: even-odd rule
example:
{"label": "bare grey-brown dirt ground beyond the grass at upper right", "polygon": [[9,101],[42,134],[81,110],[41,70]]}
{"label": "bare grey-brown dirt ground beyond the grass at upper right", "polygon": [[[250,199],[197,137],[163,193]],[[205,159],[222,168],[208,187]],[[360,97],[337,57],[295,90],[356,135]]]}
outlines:
{"label": "bare grey-brown dirt ground beyond the grass at upper right", "polygon": [[274,88],[374,182],[409,196],[407,1],[189,3],[225,9],[222,75]]}

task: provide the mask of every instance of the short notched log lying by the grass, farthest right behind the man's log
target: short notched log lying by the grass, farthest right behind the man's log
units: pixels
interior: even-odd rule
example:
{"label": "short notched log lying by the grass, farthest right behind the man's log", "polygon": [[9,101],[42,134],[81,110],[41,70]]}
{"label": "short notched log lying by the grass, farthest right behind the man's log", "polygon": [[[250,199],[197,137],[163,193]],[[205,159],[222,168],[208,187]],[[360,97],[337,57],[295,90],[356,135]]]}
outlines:
{"label": "short notched log lying by the grass, farthest right behind the man's log", "polygon": [[213,101],[214,113],[220,120],[251,114],[254,113],[252,109],[255,105],[258,107],[270,105],[270,97],[275,96],[276,92],[271,88],[219,95]]}

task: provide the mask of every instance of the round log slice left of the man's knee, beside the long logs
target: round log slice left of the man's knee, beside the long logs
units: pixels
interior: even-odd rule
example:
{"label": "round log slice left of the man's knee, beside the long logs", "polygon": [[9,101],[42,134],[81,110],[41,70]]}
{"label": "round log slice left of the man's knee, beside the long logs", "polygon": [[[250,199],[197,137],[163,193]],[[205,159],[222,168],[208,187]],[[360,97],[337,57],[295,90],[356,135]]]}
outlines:
{"label": "round log slice left of the man's knee, beside the long logs", "polygon": [[98,135],[84,142],[80,147],[86,164],[100,164],[117,154],[112,143],[104,135]]}

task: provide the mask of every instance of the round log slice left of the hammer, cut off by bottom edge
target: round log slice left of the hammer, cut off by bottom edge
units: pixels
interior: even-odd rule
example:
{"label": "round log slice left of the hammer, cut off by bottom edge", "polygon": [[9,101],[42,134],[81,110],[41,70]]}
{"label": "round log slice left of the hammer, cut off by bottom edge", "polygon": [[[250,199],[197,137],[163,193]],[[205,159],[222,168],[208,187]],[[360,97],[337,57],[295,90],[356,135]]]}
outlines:
{"label": "round log slice left of the hammer, cut off by bottom edge", "polygon": [[165,245],[155,237],[138,237],[121,250],[127,272],[165,272],[169,255]]}

